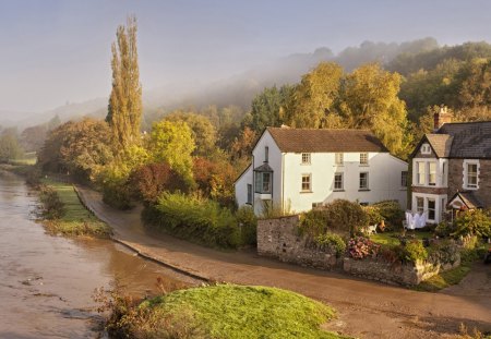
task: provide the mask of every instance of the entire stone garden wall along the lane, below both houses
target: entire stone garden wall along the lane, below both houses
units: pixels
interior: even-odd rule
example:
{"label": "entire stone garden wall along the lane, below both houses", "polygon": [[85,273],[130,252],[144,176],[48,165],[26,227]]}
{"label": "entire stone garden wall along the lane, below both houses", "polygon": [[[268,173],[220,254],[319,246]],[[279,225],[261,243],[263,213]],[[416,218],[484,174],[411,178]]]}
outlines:
{"label": "entire stone garden wall along the lane, below both houses", "polygon": [[339,269],[354,276],[385,283],[415,286],[440,271],[460,265],[460,256],[453,255],[441,263],[388,263],[379,258],[336,258],[336,254],[319,249],[315,243],[298,234],[299,216],[258,220],[258,253],[282,262],[320,269]]}

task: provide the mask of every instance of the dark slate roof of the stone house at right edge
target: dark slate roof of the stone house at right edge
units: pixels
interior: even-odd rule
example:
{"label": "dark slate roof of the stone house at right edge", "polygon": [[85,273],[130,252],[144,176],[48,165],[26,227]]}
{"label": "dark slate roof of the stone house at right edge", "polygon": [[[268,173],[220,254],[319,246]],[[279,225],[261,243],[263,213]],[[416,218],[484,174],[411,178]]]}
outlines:
{"label": "dark slate roof of the stone house at right edge", "polygon": [[491,158],[491,121],[445,123],[438,134],[453,136],[451,158]]}

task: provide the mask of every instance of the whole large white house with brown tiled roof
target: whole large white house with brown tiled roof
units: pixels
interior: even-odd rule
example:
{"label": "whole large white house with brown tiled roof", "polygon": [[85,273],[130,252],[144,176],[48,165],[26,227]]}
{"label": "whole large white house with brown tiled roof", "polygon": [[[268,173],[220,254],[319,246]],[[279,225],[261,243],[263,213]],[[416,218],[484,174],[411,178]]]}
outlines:
{"label": "whole large white house with brown tiled roof", "polygon": [[336,198],[406,208],[407,164],[364,130],[267,128],[235,183],[239,206],[304,211]]}

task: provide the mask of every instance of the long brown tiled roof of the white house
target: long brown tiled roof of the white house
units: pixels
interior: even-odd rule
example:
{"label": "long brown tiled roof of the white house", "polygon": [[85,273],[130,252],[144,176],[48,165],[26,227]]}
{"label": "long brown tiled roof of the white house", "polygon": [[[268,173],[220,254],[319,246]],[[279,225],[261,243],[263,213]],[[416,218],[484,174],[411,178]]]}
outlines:
{"label": "long brown tiled roof of the white house", "polygon": [[267,128],[282,152],[388,152],[367,130],[313,130]]}

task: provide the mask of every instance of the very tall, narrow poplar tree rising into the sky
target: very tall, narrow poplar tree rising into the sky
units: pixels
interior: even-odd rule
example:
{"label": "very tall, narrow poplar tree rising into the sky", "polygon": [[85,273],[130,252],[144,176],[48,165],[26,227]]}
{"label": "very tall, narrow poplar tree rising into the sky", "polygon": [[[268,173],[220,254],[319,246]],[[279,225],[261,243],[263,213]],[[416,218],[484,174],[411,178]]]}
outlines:
{"label": "very tall, narrow poplar tree rising into the sky", "polygon": [[112,44],[112,90],[106,121],[111,126],[119,147],[140,143],[142,117],[142,85],[140,84],[136,51],[136,19],[129,17],[127,26],[118,27],[117,43]]}

